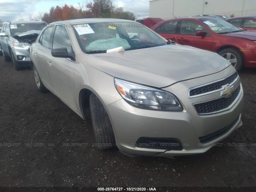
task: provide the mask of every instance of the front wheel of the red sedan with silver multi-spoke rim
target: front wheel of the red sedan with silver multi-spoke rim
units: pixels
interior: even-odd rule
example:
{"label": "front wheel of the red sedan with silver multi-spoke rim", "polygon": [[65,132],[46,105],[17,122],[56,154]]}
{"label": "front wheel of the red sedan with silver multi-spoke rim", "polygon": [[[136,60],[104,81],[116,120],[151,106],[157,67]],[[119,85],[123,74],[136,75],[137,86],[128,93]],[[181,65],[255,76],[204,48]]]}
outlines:
{"label": "front wheel of the red sedan with silver multi-spoke rim", "polygon": [[218,53],[220,56],[224,57],[226,60],[231,62],[232,66],[239,71],[244,66],[244,58],[242,53],[234,48],[227,48]]}

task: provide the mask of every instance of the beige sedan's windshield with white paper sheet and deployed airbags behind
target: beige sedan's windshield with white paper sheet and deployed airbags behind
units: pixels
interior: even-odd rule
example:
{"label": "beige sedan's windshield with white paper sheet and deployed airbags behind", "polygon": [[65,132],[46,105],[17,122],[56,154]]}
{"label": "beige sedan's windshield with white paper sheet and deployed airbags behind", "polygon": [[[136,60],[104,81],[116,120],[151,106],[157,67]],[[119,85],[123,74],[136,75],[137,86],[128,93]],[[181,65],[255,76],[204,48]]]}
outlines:
{"label": "beige sedan's windshield with white paper sheet and deployed airbags behind", "polygon": [[106,52],[123,47],[134,50],[166,45],[166,40],[137,22],[99,22],[74,26],[76,38],[85,53]]}

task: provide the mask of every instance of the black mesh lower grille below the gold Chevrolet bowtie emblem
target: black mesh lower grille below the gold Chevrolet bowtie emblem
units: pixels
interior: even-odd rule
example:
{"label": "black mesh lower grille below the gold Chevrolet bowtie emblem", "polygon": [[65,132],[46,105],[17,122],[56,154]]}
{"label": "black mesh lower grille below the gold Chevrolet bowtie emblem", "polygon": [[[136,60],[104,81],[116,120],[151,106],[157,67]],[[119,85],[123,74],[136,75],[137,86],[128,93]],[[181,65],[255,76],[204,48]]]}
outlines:
{"label": "black mesh lower grille below the gold Chevrolet bowtie emblem", "polygon": [[213,112],[220,111],[220,110],[225,109],[228,106],[230,106],[234,102],[234,100],[236,100],[236,98],[240,92],[240,89],[241,89],[241,86],[238,86],[238,88],[236,88],[236,90],[234,90],[232,92],[232,95],[228,98],[221,97],[216,100],[211,100],[211,101],[204,102],[204,103],[194,104],[194,107],[195,107],[196,111],[198,112],[198,114],[207,114],[207,113],[213,113]]}

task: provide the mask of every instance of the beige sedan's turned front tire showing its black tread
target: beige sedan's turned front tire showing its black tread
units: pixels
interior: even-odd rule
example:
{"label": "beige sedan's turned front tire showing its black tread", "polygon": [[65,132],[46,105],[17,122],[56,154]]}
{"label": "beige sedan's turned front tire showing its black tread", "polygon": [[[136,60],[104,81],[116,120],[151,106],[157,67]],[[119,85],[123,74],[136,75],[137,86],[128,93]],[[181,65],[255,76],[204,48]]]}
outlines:
{"label": "beige sedan's turned front tire showing its black tread", "polygon": [[93,93],[89,100],[96,146],[99,149],[114,148],[116,146],[114,130],[104,106]]}

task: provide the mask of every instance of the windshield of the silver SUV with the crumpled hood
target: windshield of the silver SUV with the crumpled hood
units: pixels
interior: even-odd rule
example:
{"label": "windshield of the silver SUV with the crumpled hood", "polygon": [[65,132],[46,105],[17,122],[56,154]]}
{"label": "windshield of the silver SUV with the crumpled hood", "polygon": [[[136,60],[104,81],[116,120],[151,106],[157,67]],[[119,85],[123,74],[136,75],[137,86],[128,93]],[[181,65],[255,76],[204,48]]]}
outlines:
{"label": "windshield of the silver SUV with the crumpled hood", "polygon": [[31,30],[42,30],[46,26],[45,23],[24,23],[24,24],[11,24],[11,35],[19,35]]}

